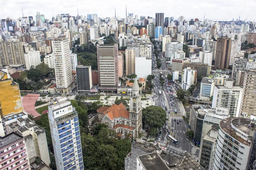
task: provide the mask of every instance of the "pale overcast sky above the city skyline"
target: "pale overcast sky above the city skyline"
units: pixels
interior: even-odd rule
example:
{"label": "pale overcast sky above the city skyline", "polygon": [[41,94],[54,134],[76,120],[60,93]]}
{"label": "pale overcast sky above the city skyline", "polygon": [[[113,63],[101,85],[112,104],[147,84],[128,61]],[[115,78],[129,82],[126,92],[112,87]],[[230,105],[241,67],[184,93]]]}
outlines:
{"label": "pale overcast sky above the city skyline", "polygon": [[183,15],[186,20],[209,18],[212,20],[236,20],[241,12],[241,20],[249,16],[255,19],[256,0],[0,0],[0,19],[10,16],[13,19],[24,16],[35,17],[36,12],[44,14],[51,20],[52,10],[54,16],[60,13],[69,13],[72,16],[98,14],[98,17],[125,17],[127,14],[137,14],[139,17],[155,17],[155,13],[163,12],[164,17],[177,19]]}

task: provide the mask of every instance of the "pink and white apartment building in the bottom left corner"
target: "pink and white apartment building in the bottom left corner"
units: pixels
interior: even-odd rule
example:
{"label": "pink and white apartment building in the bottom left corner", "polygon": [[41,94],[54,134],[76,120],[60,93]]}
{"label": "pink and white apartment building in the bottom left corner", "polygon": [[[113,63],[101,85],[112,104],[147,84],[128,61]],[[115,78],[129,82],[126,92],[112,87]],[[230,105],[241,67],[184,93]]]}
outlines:
{"label": "pink and white apartment building in the bottom left corner", "polygon": [[30,170],[24,138],[17,133],[0,136],[1,170]]}

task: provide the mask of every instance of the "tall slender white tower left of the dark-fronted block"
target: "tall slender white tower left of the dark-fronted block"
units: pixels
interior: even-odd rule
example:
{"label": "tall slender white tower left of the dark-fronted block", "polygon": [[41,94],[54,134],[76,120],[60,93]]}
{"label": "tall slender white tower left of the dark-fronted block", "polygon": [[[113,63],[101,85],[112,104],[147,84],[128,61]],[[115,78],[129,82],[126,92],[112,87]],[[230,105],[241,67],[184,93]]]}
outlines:
{"label": "tall slender white tower left of the dark-fronted block", "polygon": [[55,59],[57,92],[67,94],[70,92],[72,84],[69,40],[67,38],[54,39],[52,41],[52,51]]}

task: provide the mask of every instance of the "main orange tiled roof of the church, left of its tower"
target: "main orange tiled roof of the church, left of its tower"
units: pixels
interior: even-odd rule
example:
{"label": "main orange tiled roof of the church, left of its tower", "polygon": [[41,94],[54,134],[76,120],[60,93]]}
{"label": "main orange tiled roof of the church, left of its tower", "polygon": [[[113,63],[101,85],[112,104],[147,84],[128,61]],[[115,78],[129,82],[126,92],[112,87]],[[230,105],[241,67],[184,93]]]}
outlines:
{"label": "main orange tiled roof of the church, left of its tower", "polygon": [[[125,108],[126,109],[126,108]],[[130,113],[124,109],[124,106],[113,104],[109,107],[103,114],[108,115],[108,117],[113,120],[116,117],[124,117],[130,119]]]}

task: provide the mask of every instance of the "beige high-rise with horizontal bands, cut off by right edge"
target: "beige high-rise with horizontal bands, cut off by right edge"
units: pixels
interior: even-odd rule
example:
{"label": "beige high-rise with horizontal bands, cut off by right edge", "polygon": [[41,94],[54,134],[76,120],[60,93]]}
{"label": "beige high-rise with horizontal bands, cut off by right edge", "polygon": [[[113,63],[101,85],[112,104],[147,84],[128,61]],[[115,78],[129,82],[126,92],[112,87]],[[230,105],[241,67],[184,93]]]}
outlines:
{"label": "beige high-rise with horizontal bands, cut off by right edge", "polygon": [[256,70],[245,71],[244,78],[244,94],[241,105],[241,116],[250,117],[250,119],[256,120]]}

